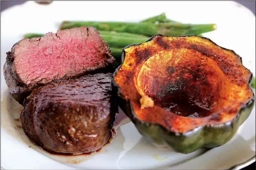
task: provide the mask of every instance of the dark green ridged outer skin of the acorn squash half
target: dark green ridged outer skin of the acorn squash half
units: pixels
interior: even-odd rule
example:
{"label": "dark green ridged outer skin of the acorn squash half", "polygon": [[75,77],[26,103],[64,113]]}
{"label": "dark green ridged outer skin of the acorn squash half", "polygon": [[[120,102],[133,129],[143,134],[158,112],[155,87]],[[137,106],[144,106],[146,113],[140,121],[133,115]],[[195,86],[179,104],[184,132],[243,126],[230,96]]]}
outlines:
{"label": "dark green ridged outer skin of the acorn squash half", "polygon": [[[152,36],[148,41],[151,41],[154,36]],[[184,36],[195,36],[195,35],[184,35]],[[140,44],[134,44],[134,45],[137,46]],[[130,46],[125,48],[129,48]],[[125,58],[125,52],[123,50],[122,63],[124,62],[124,58]],[[135,125],[139,133],[144,138],[146,138],[151,144],[155,146],[166,146],[174,149],[175,152],[178,152],[178,153],[188,154],[202,147],[213,148],[213,147],[221,146],[227,143],[237,133],[238,128],[249,117],[250,112],[254,106],[254,93],[253,93],[252,99],[243,108],[241,108],[241,110],[237,114],[237,117],[235,117],[232,121],[226,122],[223,124],[210,124],[210,125],[199,126],[183,134],[175,133],[173,131],[168,130],[167,128],[165,128],[160,124],[145,122],[137,118],[136,114],[134,113],[132,104],[129,101],[125,100],[125,98],[123,97],[120,91],[119,86],[116,84],[114,80],[114,77],[121,66],[122,64],[116,69],[112,79],[113,87],[117,92],[117,102],[120,108],[130,118],[130,120]],[[251,83],[251,79],[248,82],[248,84],[250,83]]]}

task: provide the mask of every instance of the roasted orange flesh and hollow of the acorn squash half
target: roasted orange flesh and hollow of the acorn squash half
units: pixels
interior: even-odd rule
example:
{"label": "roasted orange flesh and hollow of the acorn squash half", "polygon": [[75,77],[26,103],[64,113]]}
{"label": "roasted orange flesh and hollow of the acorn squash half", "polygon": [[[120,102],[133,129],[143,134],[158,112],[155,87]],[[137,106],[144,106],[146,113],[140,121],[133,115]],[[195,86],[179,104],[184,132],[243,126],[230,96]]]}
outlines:
{"label": "roasted orange flesh and hollow of the acorn squash half", "polygon": [[[186,133],[233,120],[253,97],[241,58],[208,39],[157,35],[124,51],[114,79],[142,121]],[[154,105],[141,109],[145,96]]]}

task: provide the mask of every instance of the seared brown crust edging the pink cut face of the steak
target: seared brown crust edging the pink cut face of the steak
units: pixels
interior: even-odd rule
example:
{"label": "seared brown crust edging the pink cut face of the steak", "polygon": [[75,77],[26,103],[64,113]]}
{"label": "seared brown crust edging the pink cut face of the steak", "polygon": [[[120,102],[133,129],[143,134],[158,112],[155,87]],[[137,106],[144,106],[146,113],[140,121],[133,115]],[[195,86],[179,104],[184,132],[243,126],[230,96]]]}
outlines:
{"label": "seared brown crust edging the pink cut face of the steak", "polygon": [[[72,28],[72,29],[77,29],[77,28]],[[86,28],[89,36],[93,37],[97,37],[97,39],[99,39],[100,35],[99,32],[93,28],[93,27],[88,27]],[[67,30],[62,30],[62,31],[67,31]],[[6,58],[6,63],[4,65],[4,75],[5,75],[5,80],[7,83],[7,86],[10,89],[10,94],[11,96],[18,101],[20,104],[23,104],[24,99],[30,94],[31,90],[37,87],[42,86],[45,83],[33,83],[33,84],[25,84],[18,76],[15,68],[14,68],[14,53],[15,53],[15,49],[17,46],[19,46],[20,44],[29,44],[34,43],[34,42],[40,42],[40,41],[44,41],[47,40],[50,36],[58,36],[60,34],[62,34],[63,32],[57,32],[56,35],[52,34],[52,33],[48,33],[46,34],[42,39],[40,37],[34,37],[31,40],[28,39],[23,39],[19,42],[17,42],[16,44],[13,45],[11,51],[7,52],[7,58]],[[113,56],[110,55],[110,50],[109,47],[107,45],[107,43],[102,39],[102,37],[100,37],[100,39],[102,40],[102,44],[101,47],[102,49],[106,50],[106,63],[104,66],[99,66],[98,67],[92,67],[92,68],[88,68],[86,69],[84,72],[82,73],[77,73],[76,75],[72,75],[72,76],[64,76],[60,79],[62,80],[67,80],[69,78],[72,77],[78,77],[87,73],[97,73],[97,72],[113,72],[114,70],[114,61],[115,59],[113,58]],[[20,49],[21,47],[19,47],[18,51],[23,51]],[[25,47],[24,47],[25,48]],[[21,52],[17,52],[17,53],[21,53]],[[44,80],[44,79],[42,79]],[[48,82],[50,82],[51,80],[47,80]],[[47,83],[47,81],[45,81]],[[44,82],[44,81],[42,81]]]}

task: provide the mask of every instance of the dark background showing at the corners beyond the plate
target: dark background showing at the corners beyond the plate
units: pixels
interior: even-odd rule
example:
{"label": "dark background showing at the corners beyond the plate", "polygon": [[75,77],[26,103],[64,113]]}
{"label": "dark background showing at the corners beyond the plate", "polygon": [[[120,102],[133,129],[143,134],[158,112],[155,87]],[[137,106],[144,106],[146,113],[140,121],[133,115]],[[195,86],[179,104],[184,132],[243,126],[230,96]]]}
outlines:
{"label": "dark background showing at the corners beyond the plate", "polygon": [[[23,4],[25,2],[26,1],[1,1],[1,12],[3,10],[5,10],[6,8],[9,8],[9,7],[12,7],[14,5],[18,5],[18,4]],[[255,15],[255,6],[256,6],[255,1],[237,1],[237,2],[244,5],[248,9],[250,9]],[[255,168],[256,168],[256,164],[254,162],[251,165],[243,168],[242,170],[252,170],[252,169],[255,170]]]}

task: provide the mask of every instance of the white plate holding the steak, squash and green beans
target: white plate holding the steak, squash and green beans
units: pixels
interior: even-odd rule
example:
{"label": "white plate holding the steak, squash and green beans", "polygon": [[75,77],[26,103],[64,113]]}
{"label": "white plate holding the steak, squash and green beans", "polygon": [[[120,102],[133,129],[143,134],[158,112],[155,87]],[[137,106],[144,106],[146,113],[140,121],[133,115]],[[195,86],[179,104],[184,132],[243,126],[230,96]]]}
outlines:
{"label": "white plate holding the steak, squash and green beans", "polygon": [[[1,165],[5,169],[227,169],[255,156],[255,107],[227,144],[191,154],[156,148],[145,142],[129,122],[101,152],[89,156],[54,156],[32,144],[23,133],[21,105],[9,95],[3,75],[6,52],[27,32],[55,32],[64,20],[140,21],[166,12],[183,23],[216,23],[205,33],[212,41],[233,49],[255,74],[255,16],[234,2],[26,2],[1,15]],[[121,111],[121,116],[123,112]],[[124,116],[124,115],[123,115]],[[126,119],[127,120],[127,119]],[[251,162],[254,160],[252,159]],[[249,162],[249,163],[251,163]],[[241,168],[243,166],[239,166]]]}

